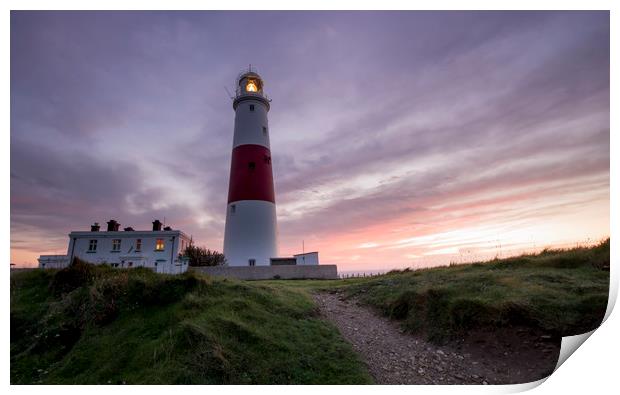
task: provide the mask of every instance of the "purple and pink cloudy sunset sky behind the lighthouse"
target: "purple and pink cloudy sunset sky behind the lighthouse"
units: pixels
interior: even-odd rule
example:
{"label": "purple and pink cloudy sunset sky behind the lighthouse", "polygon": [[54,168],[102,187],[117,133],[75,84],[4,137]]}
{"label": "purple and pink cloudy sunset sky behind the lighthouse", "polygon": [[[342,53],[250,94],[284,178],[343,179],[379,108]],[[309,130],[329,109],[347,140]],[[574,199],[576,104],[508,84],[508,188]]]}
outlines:
{"label": "purple and pink cloudy sunset sky behind the lighthouse", "polygon": [[609,13],[11,12],[11,262],[154,219],[222,250],[249,64],[281,255],[340,271],[609,236]]}

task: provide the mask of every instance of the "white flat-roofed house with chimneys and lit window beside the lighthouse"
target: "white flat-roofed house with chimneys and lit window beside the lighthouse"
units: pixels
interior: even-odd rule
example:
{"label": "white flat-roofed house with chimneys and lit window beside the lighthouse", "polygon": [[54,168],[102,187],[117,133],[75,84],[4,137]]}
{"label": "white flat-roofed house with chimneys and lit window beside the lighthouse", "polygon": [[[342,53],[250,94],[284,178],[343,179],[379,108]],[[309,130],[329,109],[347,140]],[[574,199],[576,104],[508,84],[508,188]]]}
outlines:
{"label": "white flat-roofed house with chimneys and lit window beside the lighthouse", "polygon": [[190,238],[180,230],[166,227],[158,220],[152,230],[119,231],[120,224],[108,222],[107,231],[100,231],[95,223],[88,231],[69,234],[67,255],[42,255],[40,268],[63,268],[74,258],[93,264],[108,264],[112,267],[148,267],[157,273],[177,274],[188,268],[187,260],[179,258],[190,243]]}

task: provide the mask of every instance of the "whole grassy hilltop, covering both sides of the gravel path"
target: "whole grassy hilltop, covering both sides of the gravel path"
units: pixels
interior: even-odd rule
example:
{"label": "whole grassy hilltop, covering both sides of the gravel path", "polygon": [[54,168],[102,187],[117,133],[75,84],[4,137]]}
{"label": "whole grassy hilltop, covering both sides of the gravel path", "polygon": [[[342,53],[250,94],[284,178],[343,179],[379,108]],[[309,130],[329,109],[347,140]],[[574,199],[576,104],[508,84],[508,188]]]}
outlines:
{"label": "whole grassy hilltop, covering both sides of the gravel path", "polygon": [[218,280],[78,264],[11,276],[11,383],[370,383],[311,292],[338,291],[441,342],[478,329],[598,326],[609,240],[592,248],[349,280]]}

